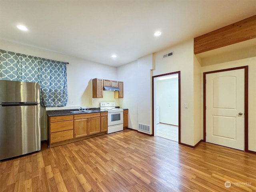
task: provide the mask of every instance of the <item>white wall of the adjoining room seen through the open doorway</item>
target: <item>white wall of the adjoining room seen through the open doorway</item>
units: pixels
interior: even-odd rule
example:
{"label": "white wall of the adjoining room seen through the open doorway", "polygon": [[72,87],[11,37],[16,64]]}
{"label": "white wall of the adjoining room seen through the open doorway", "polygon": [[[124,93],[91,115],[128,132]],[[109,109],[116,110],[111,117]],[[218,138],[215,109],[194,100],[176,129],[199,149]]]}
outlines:
{"label": "white wall of the adjoining room seen through the open doorway", "polygon": [[156,80],[156,106],[159,106],[160,123],[178,126],[178,78]]}

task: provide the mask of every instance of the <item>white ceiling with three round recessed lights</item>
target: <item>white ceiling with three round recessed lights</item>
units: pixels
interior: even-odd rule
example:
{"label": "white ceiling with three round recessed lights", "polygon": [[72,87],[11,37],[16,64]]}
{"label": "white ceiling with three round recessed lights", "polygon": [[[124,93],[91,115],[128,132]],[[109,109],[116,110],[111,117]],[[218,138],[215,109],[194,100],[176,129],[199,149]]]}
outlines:
{"label": "white ceiling with three round recessed lights", "polygon": [[120,66],[254,14],[255,0],[0,0],[0,38]]}

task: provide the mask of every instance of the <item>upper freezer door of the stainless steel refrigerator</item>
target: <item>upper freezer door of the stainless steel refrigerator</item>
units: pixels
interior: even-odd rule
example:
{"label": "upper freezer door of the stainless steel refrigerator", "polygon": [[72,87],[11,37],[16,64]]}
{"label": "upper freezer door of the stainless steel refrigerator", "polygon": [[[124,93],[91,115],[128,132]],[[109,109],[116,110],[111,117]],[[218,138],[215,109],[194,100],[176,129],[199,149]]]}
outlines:
{"label": "upper freezer door of the stainless steel refrigerator", "polygon": [[39,83],[0,80],[0,104],[2,102],[40,103],[39,90]]}

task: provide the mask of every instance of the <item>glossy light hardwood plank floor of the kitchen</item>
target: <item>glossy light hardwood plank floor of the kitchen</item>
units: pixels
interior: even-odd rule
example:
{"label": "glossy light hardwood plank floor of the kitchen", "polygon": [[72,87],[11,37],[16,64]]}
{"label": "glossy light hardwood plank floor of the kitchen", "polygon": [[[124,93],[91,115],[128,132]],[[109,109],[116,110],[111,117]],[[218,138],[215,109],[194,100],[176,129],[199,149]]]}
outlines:
{"label": "glossy light hardwood plank floor of the kitchen", "polygon": [[133,130],[5,160],[0,171],[1,192],[256,191],[256,154],[204,142],[193,149]]}

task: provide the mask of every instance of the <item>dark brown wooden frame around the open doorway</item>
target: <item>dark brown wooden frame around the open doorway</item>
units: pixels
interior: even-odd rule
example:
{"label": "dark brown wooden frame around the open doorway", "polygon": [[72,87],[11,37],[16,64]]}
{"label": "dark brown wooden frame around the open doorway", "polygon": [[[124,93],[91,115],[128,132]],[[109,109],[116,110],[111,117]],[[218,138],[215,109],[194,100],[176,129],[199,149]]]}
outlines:
{"label": "dark brown wooden frame around the open doorway", "polygon": [[166,75],[173,75],[173,74],[178,74],[178,144],[181,144],[180,142],[180,130],[181,130],[181,115],[180,115],[180,109],[181,109],[181,104],[180,104],[180,71],[176,72],[171,72],[171,73],[166,73],[166,74],[161,74],[161,75],[156,75],[152,76],[152,136],[155,136],[155,116],[154,116],[154,111],[155,111],[155,98],[154,98],[154,93],[155,93],[155,88],[154,88],[154,78],[161,77],[161,76],[166,76]]}

